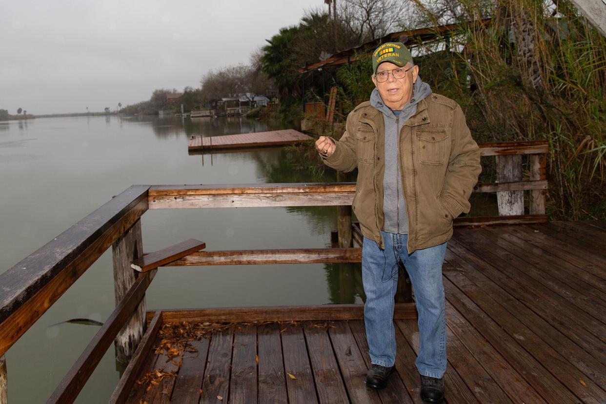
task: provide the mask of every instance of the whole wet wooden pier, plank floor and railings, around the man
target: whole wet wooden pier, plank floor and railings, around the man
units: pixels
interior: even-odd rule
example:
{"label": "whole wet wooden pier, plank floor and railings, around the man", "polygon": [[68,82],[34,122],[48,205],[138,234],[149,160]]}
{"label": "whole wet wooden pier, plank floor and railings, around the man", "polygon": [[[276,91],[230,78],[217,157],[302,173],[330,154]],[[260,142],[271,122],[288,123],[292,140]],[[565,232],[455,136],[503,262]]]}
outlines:
{"label": "whole wet wooden pier, plank floor and railings, around the man", "polygon": [[[527,192],[530,214],[455,221],[443,270],[448,403],[606,401],[606,221],[546,222],[545,152],[536,142],[482,147],[498,162],[530,154],[527,179],[474,189]],[[48,403],[74,402],[112,344],[128,365],[110,402],[419,403],[416,306],[405,276],[395,304],[397,372],[382,391],[364,385],[361,304],[146,308],[157,271],[179,270],[159,266],[361,262],[356,224],[353,248],[207,251],[190,239],[142,253],[148,209],[347,207],[354,196],[351,183],[133,185],[0,274],[0,397],[10,369],[3,355],[112,247],[116,308]]]}

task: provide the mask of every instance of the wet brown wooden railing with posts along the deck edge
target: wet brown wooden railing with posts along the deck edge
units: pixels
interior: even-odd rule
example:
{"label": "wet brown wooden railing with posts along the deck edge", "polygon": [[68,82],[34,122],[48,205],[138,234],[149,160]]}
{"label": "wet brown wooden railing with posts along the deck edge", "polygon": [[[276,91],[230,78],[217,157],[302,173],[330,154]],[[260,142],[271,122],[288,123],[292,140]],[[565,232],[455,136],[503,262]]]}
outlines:
{"label": "wet brown wooden railing with posts along the deck edge", "polygon": [[[531,192],[531,220],[543,220],[545,156],[541,142],[484,144],[482,156],[498,156],[503,165],[521,171],[521,162],[507,157],[532,154],[530,178],[494,184],[479,184],[476,192]],[[517,158],[517,157],[516,157]],[[498,167],[499,162],[498,162]],[[509,170],[511,171],[511,170]],[[498,174],[499,176],[499,174]],[[147,209],[218,207],[289,207],[310,205],[351,205],[355,184],[255,184],[255,185],[133,185],[98,210],[48,242],[38,251],[0,274],[0,364],[4,353],[45,311],[106,251],[113,250],[116,310],[59,384],[48,402],[73,402],[112,341],[116,341],[118,360],[127,361],[144,336],[146,315],[144,294],[155,270],[139,273],[131,263],[142,252],[141,216]],[[534,217],[534,219],[533,219]],[[488,220],[490,222],[493,219]],[[518,219],[519,220],[519,219]],[[493,220],[494,221],[494,220]],[[477,224],[474,219],[472,224]],[[350,244],[351,245],[351,244]],[[268,263],[361,262],[359,248],[313,248],[296,250],[201,251],[188,254],[167,265],[239,265]],[[297,308],[301,313],[305,308]],[[245,308],[242,310],[246,310]],[[287,309],[276,308],[276,313]],[[316,311],[314,311],[316,310]],[[311,308],[309,318],[325,316],[330,307]],[[360,310],[347,307],[348,311]],[[411,316],[414,306],[402,305],[401,316]],[[219,313],[221,310],[213,309]],[[398,312],[398,309],[396,309]],[[209,312],[210,313],[210,312]],[[219,313],[220,314],[220,313]],[[347,318],[342,311],[343,318]],[[217,317],[219,318],[219,317]],[[161,318],[151,319],[157,330]],[[126,325],[126,326],[124,326]],[[121,331],[122,330],[122,331]],[[150,332],[148,330],[148,332]],[[145,343],[150,343],[145,340]],[[130,364],[129,366],[131,366]],[[9,365],[10,366],[10,365]],[[3,368],[0,366],[0,373]],[[0,380],[6,374],[0,374]],[[121,383],[125,383],[121,381]],[[5,394],[5,391],[4,391]],[[2,397],[2,391],[0,391]],[[116,399],[121,402],[120,399]]]}

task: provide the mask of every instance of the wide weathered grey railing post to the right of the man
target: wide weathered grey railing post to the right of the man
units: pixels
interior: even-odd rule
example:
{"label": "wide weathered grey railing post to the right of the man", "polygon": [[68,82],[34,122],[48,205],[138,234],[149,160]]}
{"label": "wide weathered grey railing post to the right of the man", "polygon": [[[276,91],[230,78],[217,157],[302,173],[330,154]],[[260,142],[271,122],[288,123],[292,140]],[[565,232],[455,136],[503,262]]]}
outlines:
{"label": "wide weathered grey railing post to the right of the man", "polygon": [[[496,156],[496,179],[498,182],[522,180],[522,155]],[[496,193],[499,216],[524,214],[524,191]]]}

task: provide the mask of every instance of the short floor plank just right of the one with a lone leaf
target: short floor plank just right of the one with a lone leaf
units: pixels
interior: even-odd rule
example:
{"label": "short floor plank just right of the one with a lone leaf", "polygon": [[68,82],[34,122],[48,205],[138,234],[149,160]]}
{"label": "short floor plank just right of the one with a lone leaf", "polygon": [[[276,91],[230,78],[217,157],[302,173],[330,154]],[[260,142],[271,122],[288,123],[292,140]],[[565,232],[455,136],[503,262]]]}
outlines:
{"label": "short floor plank just right of the one with a lone leaf", "polygon": [[303,329],[320,403],[349,403],[339,365],[328,337],[330,322],[305,322]]}

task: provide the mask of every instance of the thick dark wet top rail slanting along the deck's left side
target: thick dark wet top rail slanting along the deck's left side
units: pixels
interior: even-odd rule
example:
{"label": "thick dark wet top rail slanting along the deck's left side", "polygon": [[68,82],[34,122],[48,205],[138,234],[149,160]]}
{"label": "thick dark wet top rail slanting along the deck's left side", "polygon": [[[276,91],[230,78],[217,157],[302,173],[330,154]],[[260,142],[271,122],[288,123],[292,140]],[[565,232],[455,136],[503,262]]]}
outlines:
{"label": "thick dark wet top rail slanting along the deck's left side", "polygon": [[0,356],[147,210],[133,185],[0,274]]}

